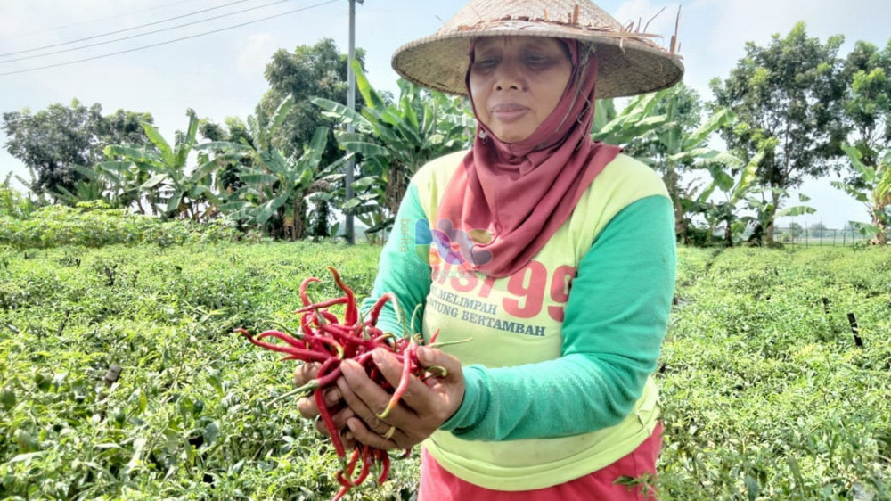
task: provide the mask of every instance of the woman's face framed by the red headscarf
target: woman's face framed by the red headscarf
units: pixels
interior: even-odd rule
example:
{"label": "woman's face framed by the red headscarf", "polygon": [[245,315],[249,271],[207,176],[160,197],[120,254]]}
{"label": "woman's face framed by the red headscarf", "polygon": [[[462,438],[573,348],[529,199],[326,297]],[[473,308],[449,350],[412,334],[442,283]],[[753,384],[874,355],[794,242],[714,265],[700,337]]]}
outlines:
{"label": "woman's face framed by the red headscarf", "polygon": [[470,65],[470,97],[479,120],[498,139],[519,143],[554,111],[571,74],[568,51],[555,38],[480,38]]}

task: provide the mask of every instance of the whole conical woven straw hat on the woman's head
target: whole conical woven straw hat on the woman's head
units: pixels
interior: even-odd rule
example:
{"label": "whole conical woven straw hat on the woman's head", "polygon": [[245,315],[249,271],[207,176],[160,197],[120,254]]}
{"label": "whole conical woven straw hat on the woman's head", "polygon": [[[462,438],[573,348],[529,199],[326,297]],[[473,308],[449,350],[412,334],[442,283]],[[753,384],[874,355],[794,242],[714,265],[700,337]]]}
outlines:
{"label": "whole conical woven straw hat on the woman's head", "polygon": [[590,0],[470,0],[436,34],[397,49],[393,69],[420,86],[467,94],[471,41],[524,35],[593,44],[598,98],[655,92],[683,77],[674,38],[666,51],[651,40],[656,36],[625,29]]}

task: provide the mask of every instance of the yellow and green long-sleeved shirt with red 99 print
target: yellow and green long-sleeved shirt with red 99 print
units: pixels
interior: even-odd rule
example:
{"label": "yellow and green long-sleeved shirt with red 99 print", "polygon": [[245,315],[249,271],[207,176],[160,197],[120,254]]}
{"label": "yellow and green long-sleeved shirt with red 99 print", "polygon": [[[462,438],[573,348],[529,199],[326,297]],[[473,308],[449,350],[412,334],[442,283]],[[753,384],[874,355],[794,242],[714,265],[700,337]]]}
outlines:
{"label": "yellow and green long-sleeved shirt with red 99 print", "polygon": [[[492,278],[465,271],[448,246],[488,235],[434,220],[463,154],[413,177],[372,299],[394,292],[406,316],[419,308],[409,328],[425,337],[472,338],[445,348],[462,361],[466,390],[425,442],[446,470],[502,490],[575,479],[625,456],[656,425],[650,374],[674,292],[671,201],[655,172],[619,155],[526,267]],[[409,322],[388,309],[380,325],[403,333]]]}

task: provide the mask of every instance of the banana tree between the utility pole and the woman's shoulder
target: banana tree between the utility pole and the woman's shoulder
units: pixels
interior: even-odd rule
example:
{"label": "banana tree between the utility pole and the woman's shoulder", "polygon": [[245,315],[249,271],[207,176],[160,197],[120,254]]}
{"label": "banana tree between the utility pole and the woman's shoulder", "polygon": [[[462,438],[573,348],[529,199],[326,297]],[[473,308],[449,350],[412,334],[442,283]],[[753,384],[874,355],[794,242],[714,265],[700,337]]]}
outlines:
{"label": "banana tree between the utility pole and the woman's shoulder", "polygon": [[325,116],[338,119],[355,132],[338,131],[340,148],[361,159],[356,197],[344,201],[350,210],[370,226],[368,233],[392,226],[405,195],[408,180],[429,160],[470,145],[472,118],[462,98],[422,90],[399,80],[399,98],[388,103],[365,78],[361,65],[353,62],[356,86],[365,106],[351,111],[333,101],[313,98]]}

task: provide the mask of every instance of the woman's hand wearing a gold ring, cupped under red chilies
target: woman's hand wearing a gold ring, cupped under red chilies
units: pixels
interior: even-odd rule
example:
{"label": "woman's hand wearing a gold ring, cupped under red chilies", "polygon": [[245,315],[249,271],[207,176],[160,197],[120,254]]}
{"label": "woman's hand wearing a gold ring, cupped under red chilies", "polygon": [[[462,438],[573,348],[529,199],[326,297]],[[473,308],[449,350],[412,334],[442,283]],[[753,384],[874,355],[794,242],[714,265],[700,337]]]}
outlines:
{"label": "woman's hand wearing a gold ring, cupped under red chilies", "polygon": [[[386,349],[372,355],[384,378],[396,388],[402,378],[402,364]],[[464,398],[464,375],[461,362],[440,349],[421,347],[418,361],[422,367],[441,366],[445,377],[431,377],[422,382],[411,376],[405,394],[384,418],[378,415],[389,403],[390,394],[365,374],[356,362],[340,365],[343,377],[338,379],[340,394],[356,414],[347,419],[353,437],[373,448],[412,448],[437,431],[454,415]]]}

